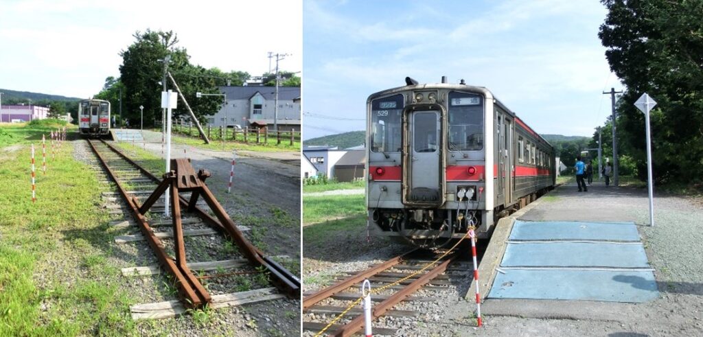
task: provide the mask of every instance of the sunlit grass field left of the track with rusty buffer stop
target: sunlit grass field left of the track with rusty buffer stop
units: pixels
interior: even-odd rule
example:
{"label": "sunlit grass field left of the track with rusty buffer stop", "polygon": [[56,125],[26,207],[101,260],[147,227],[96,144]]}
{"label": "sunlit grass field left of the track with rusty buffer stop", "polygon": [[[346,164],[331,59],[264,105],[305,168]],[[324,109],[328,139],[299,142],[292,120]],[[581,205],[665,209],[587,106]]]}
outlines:
{"label": "sunlit grass field left of the track with rusty buffer stop", "polygon": [[46,175],[37,170],[32,203],[27,143],[48,129],[0,129],[18,144],[0,161],[0,336],[134,334],[132,300],[108,263],[112,235],[96,175],[64,143]]}

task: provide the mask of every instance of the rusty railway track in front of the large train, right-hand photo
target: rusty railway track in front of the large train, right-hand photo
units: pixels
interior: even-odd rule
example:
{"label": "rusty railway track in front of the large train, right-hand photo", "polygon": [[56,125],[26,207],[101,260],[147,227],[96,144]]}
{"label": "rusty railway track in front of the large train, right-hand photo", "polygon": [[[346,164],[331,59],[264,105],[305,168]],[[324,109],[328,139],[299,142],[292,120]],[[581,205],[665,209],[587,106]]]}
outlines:
{"label": "rusty railway track in front of the large train, right-hand photo", "polygon": [[[446,256],[442,257],[445,253]],[[403,305],[432,302],[441,297],[437,296],[437,292],[456,292],[461,284],[470,284],[473,269],[470,262],[465,261],[467,257],[470,255],[464,250],[444,253],[412,250],[378,265],[371,265],[351,276],[343,275],[332,286],[304,294],[303,330],[310,336],[318,333],[327,327],[333,317],[344,313],[349,305],[354,304],[339,322],[328,326],[324,333],[325,336],[352,336],[359,333],[363,327],[363,310],[356,300],[360,297],[361,284],[366,279],[370,281],[372,289],[376,289],[371,295],[372,319],[376,323],[384,316],[418,319],[421,310],[404,310]],[[429,295],[416,295],[420,291]],[[373,332],[381,335],[396,334],[396,328],[383,325],[374,325]]]}

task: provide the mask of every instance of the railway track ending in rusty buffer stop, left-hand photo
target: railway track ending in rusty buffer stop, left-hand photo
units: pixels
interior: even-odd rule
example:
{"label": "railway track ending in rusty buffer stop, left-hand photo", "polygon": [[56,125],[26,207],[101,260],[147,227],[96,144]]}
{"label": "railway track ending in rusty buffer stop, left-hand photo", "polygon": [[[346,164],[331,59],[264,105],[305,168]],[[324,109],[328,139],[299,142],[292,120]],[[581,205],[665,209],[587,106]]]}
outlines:
{"label": "railway track ending in rusty buffer stop, left-hand photo", "polygon": [[[172,317],[205,305],[225,307],[285,296],[299,298],[299,279],[247,241],[243,231],[248,229],[234,224],[205,185],[209,172],[200,170],[196,174],[188,160],[175,159],[172,160],[174,170],[159,179],[112,144],[96,140],[88,140],[88,143],[96,155],[96,170],[103,173],[103,181],[112,184],[116,190],[103,192],[103,198],[108,202],[106,208],[112,215],[131,215],[131,220],[111,223],[133,232],[117,236],[115,243],[146,242],[159,264],[125,268],[122,274],[146,276],[162,270],[172,279],[179,294],[178,301],[135,305],[131,308],[132,317]],[[163,216],[167,189],[171,200],[178,201],[169,205],[169,218]],[[214,216],[210,215],[211,212]],[[190,252],[190,248],[195,248],[195,238],[200,237],[209,238],[206,240],[208,254],[198,253],[202,247]],[[220,249],[227,246],[229,249]],[[193,257],[197,259],[203,255],[227,258],[191,261]],[[204,286],[210,279],[243,277],[250,277],[259,284],[264,280],[269,287],[237,293],[216,289],[215,293],[210,293]]]}

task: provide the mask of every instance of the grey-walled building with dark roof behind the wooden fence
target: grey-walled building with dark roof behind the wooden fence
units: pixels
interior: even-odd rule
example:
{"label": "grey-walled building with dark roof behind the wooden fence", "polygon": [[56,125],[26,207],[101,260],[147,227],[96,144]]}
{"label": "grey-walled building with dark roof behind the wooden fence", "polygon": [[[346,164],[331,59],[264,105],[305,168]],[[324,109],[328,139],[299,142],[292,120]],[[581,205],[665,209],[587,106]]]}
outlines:
{"label": "grey-walled building with dark roof behind the wooden fence", "polygon": [[[219,87],[227,104],[214,115],[207,116],[212,127],[273,128],[276,110],[276,87]],[[300,131],[300,87],[278,87],[278,129]]]}

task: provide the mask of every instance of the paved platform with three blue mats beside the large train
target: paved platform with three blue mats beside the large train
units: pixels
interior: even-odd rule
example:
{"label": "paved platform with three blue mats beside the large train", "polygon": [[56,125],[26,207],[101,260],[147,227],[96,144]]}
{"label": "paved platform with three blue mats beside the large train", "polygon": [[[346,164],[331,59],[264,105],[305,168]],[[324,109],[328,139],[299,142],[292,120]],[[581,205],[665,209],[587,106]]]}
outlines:
{"label": "paved platform with three blue mats beside the large train", "polygon": [[638,231],[643,224],[613,207],[619,194],[602,183],[588,192],[567,184],[501,219],[479,266],[482,311],[605,318],[659,298]]}

